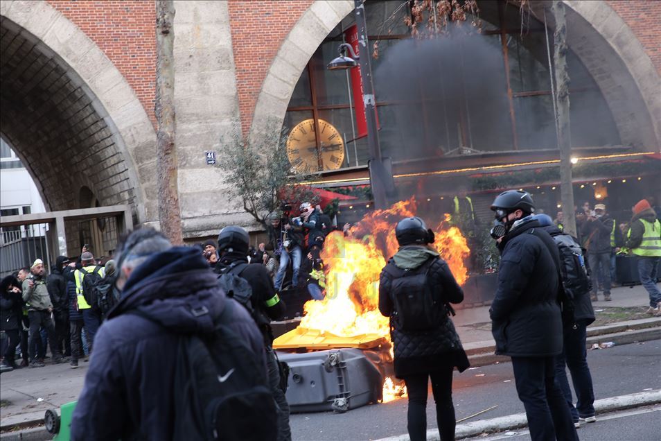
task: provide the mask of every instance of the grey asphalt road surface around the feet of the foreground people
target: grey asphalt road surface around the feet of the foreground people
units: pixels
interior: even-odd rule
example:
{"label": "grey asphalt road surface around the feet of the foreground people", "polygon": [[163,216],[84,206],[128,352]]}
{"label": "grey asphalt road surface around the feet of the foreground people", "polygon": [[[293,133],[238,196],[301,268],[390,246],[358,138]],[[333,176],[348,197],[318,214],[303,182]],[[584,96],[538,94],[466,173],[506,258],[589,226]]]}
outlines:
{"label": "grey asphalt road surface around the feet of the foreground people", "polygon": [[[661,340],[615,346],[588,352],[597,399],[661,389]],[[523,413],[516,396],[510,363],[455,372],[454,401],[457,420],[484,410],[470,421]],[[431,399],[431,391],[430,391]],[[433,400],[432,400],[433,401]],[[349,410],[347,413],[291,415],[294,440],[375,440],[406,433],[406,399]],[[432,404],[428,404],[428,428],[436,427]],[[658,420],[657,420],[658,421]],[[647,426],[658,437],[659,424]],[[599,438],[600,441],[627,438]],[[645,438],[637,438],[645,439]],[[659,439],[659,438],[657,438]]]}

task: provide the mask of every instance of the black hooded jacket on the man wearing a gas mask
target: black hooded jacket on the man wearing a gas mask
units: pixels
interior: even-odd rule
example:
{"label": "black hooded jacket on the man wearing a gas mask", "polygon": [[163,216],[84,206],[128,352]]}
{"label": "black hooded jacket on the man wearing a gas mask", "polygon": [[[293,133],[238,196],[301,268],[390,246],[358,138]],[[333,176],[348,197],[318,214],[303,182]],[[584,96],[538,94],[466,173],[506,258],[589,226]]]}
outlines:
{"label": "black hooded jacket on the man wearing a gas mask", "polygon": [[[557,248],[545,245],[531,230],[530,217],[515,223],[500,243],[501,257],[495,298],[489,309],[496,354],[521,357],[555,356],[563,349],[563,324],[558,304]],[[551,237],[548,241],[553,243]],[[554,253],[554,255],[551,254]]]}

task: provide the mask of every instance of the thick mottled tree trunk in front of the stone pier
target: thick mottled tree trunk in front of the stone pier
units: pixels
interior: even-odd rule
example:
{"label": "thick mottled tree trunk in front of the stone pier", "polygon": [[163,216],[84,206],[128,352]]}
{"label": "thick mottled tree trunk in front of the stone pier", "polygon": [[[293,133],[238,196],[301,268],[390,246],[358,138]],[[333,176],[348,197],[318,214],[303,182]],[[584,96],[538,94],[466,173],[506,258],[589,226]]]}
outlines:
{"label": "thick mottled tree trunk in front of the stone pier", "polygon": [[173,0],[156,2],[156,103],[159,222],[172,243],[182,243],[182,215],[177,193],[175,146],[175,65],[173,58],[175,6]]}

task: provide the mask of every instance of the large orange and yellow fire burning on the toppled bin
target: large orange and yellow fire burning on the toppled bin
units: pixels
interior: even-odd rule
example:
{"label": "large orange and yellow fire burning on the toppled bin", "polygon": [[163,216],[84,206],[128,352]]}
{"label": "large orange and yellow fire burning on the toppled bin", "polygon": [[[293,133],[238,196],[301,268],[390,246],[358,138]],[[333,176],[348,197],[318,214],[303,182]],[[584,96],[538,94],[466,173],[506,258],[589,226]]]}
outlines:
{"label": "large orange and yellow fire burning on the toppled bin", "polygon": [[[347,237],[333,232],[326,237],[321,257],[326,273],[326,297],[310,300],[304,306],[305,315],[299,328],[313,329],[320,334],[355,337],[377,334],[390,339],[389,319],[378,310],[379,275],[387,259],[398,250],[395,226],[402,218],[415,216],[416,201],[397,202],[389,209],[376,210],[354,225]],[[448,263],[459,284],[464,284],[468,271],[464,260],[470,254],[466,239],[457,227],[449,223],[446,214],[436,223],[434,248]],[[403,386],[387,379],[383,401],[405,394]]]}

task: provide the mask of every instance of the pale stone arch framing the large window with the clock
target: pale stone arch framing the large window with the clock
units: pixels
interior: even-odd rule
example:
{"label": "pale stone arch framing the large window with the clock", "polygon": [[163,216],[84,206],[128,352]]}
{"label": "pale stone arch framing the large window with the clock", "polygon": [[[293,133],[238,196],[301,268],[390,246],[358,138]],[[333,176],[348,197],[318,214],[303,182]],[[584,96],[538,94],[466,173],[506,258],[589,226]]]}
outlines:
{"label": "pale stone arch framing the large window with the clock", "polygon": [[[539,7],[544,2],[537,3]],[[567,37],[599,85],[617,121],[624,144],[637,148],[661,145],[659,74],[640,41],[605,1],[565,0],[568,6]],[[316,0],[303,13],[274,58],[257,99],[251,137],[267,121],[283,121],[301,72],[340,21],[353,11],[351,0]],[[541,17],[541,10],[534,10]],[[548,14],[547,14],[548,15]],[[592,28],[592,35],[574,35],[572,27]]]}

